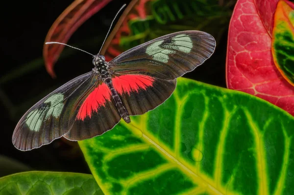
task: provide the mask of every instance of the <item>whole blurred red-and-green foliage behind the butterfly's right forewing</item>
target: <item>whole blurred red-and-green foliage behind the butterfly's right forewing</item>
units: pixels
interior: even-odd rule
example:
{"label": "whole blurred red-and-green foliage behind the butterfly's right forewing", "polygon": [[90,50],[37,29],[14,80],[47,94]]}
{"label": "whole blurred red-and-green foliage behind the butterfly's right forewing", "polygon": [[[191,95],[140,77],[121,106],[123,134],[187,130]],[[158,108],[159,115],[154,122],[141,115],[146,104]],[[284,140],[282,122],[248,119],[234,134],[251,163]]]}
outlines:
{"label": "whole blurred red-and-green foliage behind the butterfly's right forewing", "polygon": [[230,11],[219,6],[218,0],[133,0],[101,54],[110,60],[148,40],[181,30],[202,30],[218,42],[229,17]]}

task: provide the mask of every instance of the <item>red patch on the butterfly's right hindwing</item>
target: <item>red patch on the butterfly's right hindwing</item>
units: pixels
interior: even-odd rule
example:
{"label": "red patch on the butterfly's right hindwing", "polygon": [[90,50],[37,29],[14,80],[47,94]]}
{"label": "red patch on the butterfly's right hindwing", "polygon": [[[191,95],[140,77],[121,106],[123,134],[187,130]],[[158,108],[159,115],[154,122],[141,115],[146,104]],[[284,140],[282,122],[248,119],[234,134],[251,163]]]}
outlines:
{"label": "red patch on the butterfly's right hindwing", "polygon": [[155,79],[146,75],[122,75],[112,79],[115,90],[122,95],[123,92],[130,94],[139,89],[146,89],[152,86]]}

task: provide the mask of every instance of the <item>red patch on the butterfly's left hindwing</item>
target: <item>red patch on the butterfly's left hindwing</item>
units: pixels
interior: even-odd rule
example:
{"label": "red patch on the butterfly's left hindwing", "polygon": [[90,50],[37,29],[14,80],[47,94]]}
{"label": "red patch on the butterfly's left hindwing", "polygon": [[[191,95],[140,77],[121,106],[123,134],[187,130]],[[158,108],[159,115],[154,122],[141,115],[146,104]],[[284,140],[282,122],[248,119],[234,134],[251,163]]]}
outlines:
{"label": "red patch on the butterfly's left hindwing", "polygon": [[76,115],[76,119],[84,120],[87,116],[91,118],[92,113],[94,111],[97,112],[101,106],[105,105],[106,100],[110,100],[110,98],[111,95],[108,86],[104,83],[100,84],[83,102]]}

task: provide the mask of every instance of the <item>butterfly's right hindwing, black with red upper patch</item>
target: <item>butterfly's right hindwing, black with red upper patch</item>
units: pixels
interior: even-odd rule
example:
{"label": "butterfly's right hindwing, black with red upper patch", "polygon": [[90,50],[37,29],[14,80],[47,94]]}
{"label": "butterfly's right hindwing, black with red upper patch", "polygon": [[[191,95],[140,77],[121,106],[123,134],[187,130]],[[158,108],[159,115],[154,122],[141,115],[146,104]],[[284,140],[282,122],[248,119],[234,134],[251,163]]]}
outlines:
{"label": "butterfly's right hindwing, black with red upper patch", "polygon": [[176,85],[176,80],[146,75],[113,75],[112,82],[130,115],[153,110],[172,95]]}

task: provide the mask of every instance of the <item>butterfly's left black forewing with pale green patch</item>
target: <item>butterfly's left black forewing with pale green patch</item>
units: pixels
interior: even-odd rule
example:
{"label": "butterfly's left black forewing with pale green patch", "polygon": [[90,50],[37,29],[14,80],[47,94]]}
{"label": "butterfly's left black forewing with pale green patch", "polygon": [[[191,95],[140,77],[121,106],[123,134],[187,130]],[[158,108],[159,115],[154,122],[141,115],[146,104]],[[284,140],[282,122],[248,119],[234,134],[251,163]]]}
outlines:
{"label": "butterfly's left black forewing with pale green patch", "polygon": [[69,130],[72,107],[94,90],[97,75],[83,74],[57,88],[30,108],[17,124],[12,142],[20,150],[30,150],[60,138]]}

